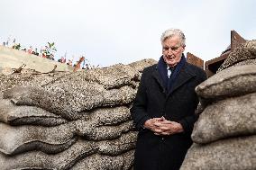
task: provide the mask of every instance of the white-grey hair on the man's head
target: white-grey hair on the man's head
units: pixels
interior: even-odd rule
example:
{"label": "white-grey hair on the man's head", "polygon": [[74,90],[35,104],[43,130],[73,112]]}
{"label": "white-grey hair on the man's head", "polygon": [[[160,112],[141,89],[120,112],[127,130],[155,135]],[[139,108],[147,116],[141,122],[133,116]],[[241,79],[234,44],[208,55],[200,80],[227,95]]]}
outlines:
{"label": "white-grey hair on the man's head", "polygon": [[167,31],[164,31],[161,34],[160,41],[161,41],[161,43],[163,43],[164,40],[174,37],[176,35],[178,35],[178,37],[180,39],[180,45],[185,46],[186,45],[185,35],[181,30],[178,30],[178,29],[169,29]]}

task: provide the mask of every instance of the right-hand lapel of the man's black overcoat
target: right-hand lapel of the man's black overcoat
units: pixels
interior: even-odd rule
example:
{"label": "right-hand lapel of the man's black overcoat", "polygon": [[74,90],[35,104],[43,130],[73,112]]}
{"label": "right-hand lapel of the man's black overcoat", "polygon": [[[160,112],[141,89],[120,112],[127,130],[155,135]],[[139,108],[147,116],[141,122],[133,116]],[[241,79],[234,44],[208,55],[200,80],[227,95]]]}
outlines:
{"label": "right-hand lapel of the man's black overcoat", "polygon": [[[183,68],[181,68],[176,81],[174,82],[173,88],[169,92],[169,94],[173,93],[178,89],[179,86],[184,85],[190,78],[196,76],[193,71],[189,71],[187,67],[187,63]],[[169,96],[168,94],[168,96]]]}

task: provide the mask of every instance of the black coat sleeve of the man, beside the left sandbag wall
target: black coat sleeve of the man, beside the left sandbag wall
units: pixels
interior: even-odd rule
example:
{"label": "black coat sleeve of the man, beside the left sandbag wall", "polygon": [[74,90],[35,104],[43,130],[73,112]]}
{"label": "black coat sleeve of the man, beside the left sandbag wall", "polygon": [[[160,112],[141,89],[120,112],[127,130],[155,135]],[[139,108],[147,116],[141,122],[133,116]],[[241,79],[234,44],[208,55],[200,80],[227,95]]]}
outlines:
{"label": "black coat sleeve of the man, beside the left sandbag wall", "polygon": [[135,128],[137,130],[142,130],[142,125],[144,122],[151,119],[146,111],[148,99],[145,78],[145,71],[143,71],[141,82],[138,87],[136,97],[133,101],[133,107],[130,110]]}

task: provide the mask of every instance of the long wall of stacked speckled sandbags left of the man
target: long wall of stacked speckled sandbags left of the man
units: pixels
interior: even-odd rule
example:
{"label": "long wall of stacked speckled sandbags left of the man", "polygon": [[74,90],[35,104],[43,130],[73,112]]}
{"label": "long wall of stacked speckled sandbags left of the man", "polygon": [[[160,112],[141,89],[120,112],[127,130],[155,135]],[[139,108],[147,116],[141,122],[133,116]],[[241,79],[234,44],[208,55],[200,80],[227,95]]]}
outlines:
{"label": "long wall of stacked speckled sandbags left of the man", "polygon": [[154,63],[1,74],[1,169],[132,169],[129,109],[142,69]]}

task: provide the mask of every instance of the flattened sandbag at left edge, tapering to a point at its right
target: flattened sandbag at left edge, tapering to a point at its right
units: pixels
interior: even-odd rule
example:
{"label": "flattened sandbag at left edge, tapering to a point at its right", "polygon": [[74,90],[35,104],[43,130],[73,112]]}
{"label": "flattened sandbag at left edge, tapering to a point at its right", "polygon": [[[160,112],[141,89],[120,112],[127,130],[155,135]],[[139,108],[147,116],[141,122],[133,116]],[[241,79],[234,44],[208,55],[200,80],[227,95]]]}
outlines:
{"label": "flattened sandbag at left edge, tapering to a point at its right", "polygon": [[33,106],[17,106],[0,100],[0,121],[11,125],[57,126],[68,121],[61,116]]}

